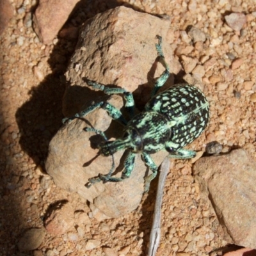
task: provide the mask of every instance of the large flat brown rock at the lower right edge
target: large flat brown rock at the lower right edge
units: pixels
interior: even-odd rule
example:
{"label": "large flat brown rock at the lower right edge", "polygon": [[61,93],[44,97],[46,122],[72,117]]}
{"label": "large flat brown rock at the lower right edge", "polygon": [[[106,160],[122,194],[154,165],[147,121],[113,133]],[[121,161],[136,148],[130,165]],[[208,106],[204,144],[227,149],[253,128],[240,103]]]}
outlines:
{"label": "large flat brown rock at the lower right edge", "polygon": [[[256,163],[243,149],[195,163],[195,178],[223,225],[225,238],[256,248]],[[230,241],[230,239],[229,239]]]}

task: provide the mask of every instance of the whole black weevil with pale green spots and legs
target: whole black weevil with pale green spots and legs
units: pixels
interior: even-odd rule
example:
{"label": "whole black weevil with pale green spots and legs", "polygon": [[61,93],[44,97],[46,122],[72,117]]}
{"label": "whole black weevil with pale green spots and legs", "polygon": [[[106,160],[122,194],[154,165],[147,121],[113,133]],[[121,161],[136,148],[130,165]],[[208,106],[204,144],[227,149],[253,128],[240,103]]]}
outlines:
{"label": "whole black weevil with pale green spots and legs", "polygon": [[169,157],[176,159],[189,159],[196,155],[195,151],[184,149],[184,147],[198,138],[207,127],[209,102],[200,89],[186,83],[175,84],[168,90],[157,94],[159,88],[166,83],[170,76],[170,68],[163,54],[162,38],[161,36],[157,36],[157,38],[159,42],[156,44],[156,51],[159,61],[163,61],[165,70],[156,79],[151,99],[141,113],[134,115],[135,104],[131,92],[127,92],[124,88],[109,88],[104,84],[88,80],[88,85],[95,90],[101,90],[108,95],[123,94],[125,108],[131,119],[127,122],[119,109],[104,101],[92,104],[84,111],[63,119],[63,123],[70,122],[74,118],[84,117],[95,109],[102,108],[111,118],[124,125],[124,136],[115,141],[108,141],[102,131],[92,127],[84,128],[84,131],[95,132],[104,138],[104,142],[99,145],[99,153],[103,156],[113,157],[115,152],[124,149],[129,152],[124,161],[124,171],[121,177],[112,176],[115,170],[113,161],[109,173],[107,175],[99,174],[99,177],[89,179],[87,188],[100,181],[119,182],[129,178],[134,168],[135,156],[141,154],[143,161],[152,171],[150,175],[145,177],[145,191],[148,191],[151,180],[157,175],[157,166],[150,154],[159,150],[166,150],[170,153]]}

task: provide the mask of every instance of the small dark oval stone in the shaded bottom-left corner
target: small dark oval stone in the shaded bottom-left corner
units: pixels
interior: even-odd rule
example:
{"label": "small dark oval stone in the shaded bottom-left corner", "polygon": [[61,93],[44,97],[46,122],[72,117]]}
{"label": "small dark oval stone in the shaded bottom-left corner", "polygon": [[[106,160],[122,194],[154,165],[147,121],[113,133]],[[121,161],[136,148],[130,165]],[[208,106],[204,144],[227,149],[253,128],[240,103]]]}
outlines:
{"label": "small dark oval stone in the shaded bottom-left corner", "polygon": [[40,246],[44,240],[45,230],[44,228],[30,228],[27,230],[18,242],[18,248],[20,252],[26,252],[35,250]]}

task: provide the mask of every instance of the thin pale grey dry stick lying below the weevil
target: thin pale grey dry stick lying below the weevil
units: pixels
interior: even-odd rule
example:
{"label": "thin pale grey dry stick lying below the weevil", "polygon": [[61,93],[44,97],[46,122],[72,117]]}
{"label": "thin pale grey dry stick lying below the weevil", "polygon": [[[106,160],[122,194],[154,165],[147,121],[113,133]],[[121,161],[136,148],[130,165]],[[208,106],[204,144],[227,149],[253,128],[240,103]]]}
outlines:
{"label": "thin pale grey dry stick lying below the weevil", "polygon": [[148,256],[156,255],[156,251],[160,242],[163,190],[164,190],[164,184],[165,184],[167,173],[170,170],[170,166],[171,166],[170,159],[168,157],[165,157],[163,163],[161,164],[161,167],[159,168],[160,175],[159,175],[158,186],[157,186],[154,220],[153,220],[152,228],[150,232]]}

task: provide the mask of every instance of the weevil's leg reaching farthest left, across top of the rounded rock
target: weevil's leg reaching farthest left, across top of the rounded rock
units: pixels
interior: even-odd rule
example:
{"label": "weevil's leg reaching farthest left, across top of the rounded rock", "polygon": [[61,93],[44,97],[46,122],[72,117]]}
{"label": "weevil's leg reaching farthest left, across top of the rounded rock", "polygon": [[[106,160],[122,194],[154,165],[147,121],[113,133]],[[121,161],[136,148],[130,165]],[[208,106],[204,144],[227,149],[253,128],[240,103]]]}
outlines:
{"label": "weevil's leg reaching farthest left, across top of the rounded rock", "polygon": [[62,122],[63,122],[63,124],[65,124],[65,122],[70,122],[70,121],[74,120],[75,118],[82,118],[82,117],[92,113],[93,111],[95,111],[95,109],[98,109],[98,108],[105,109],[108,112],[109,116],[111,116],[111,118],[118,120],[123,125],[127,124],[127,121],[125,120],[121,111],[119,109],[115,108],[115,106],[109,104],[108,102],[104,102],[104,101],[93,104],[92,106],[84,109],[84,111],[81,111],[80,113],[77,113],[76,115],[74,115],[70,118],[63,118]]}

